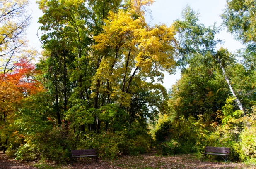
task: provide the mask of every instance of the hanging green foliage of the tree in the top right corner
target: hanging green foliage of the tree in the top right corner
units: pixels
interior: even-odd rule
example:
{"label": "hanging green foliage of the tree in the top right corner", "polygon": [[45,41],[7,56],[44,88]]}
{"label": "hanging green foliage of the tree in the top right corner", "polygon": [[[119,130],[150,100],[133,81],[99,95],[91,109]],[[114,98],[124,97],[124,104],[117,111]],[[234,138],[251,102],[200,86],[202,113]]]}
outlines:
{"label": "hanging green foliage of the tree in the top right corner", "polygon": [[[251,93],[254,93],[255,84],[255,49],[256,49],[256,2],[255,0],[227,0],[227,6],[222,14],[223,23],[235,39],[246,45],[246,49],[239,51],[243,58],[245,72],[254,80],[251,84]],[[252,96],[248,94],[248,96]]]}

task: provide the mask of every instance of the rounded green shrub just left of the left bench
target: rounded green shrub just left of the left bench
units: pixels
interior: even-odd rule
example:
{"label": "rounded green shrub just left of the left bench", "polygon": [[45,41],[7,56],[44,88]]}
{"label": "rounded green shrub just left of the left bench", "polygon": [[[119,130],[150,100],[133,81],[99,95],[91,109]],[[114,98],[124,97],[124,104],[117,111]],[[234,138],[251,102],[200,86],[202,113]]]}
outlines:
{"label": "rounded green shrub just left of the left bench", "polygon": [[72,131],[64,127],[53,127],[43,133],[27,136],[25,144],[16,153],[18,160],[51,160],[65,164],[70,160],[75,139]]}

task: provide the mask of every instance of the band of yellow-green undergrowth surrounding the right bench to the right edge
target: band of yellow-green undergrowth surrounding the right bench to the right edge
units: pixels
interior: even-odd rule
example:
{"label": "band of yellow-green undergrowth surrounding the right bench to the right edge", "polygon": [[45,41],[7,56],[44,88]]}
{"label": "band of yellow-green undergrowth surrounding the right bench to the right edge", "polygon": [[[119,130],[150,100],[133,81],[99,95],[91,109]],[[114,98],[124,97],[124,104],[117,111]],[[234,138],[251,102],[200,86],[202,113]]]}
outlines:
{"label": "band of yellow-green undergrowth surrounding the right bench to the right edge", "polygon": [[[227,102],[230,104],[230,101]],[[204,121],[203,116],[198,119],[180,116],[172,120],[165,115],[160,117],[154,132],[155,143],[162,155],[201,153],[205,151],[205,146],[214,146],[231,148],[230,160],[256,161],[255,107],[246,117],[234,112],[229,115],[224,113],[221,124]],[[225,118],[229,120],[225,121]]]}

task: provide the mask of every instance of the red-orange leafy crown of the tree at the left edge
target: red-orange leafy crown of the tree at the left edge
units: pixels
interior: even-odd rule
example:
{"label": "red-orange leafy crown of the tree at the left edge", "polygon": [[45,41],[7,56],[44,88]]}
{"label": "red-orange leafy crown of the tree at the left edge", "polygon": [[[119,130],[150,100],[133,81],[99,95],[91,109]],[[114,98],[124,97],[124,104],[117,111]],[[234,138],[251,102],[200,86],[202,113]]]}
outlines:
{"label": "red-orange leafy crown of the tree at the left edge", "polygon": [[3,121],[19,108],[24,97],[43,90],[40,82],[34,79],[35,66],[27,60],[17,63],[12,73],[0,74],[0,113]]}

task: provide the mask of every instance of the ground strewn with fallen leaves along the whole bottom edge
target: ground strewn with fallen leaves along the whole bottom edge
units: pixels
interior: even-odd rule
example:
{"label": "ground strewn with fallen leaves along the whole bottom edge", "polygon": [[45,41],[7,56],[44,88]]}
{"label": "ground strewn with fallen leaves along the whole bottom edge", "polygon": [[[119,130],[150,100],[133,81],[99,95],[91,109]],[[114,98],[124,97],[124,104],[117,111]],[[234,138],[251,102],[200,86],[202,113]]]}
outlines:
{"label": "ground strewn with fallen leaves along the whole bottom edge", "polygon": [[41,164],[9,159],[0,152],[0,169],[255,169],[253,164],[235,162],[201,161],[196,155],[159,156],[146,153],[138,156],[123,156],[116,160],[81,158],[73,165]]}

